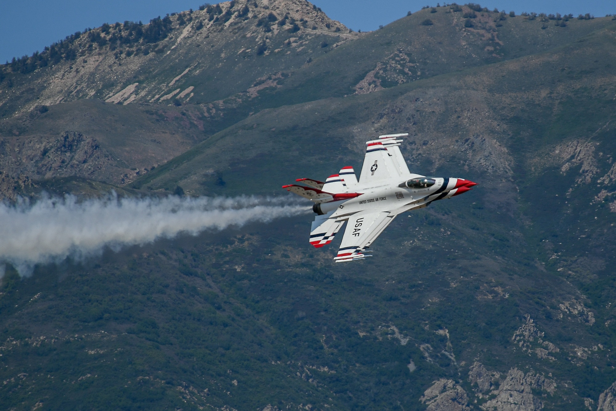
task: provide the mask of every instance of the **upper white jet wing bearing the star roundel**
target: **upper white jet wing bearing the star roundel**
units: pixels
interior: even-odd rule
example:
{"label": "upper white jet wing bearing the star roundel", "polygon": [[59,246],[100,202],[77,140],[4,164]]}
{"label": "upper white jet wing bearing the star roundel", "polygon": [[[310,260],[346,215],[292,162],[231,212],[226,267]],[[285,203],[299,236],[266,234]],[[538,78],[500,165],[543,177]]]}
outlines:
{"label": "upper white jet wing bearing the star roundel", "polygon": [[395,138],[381,138],[368,141],[366,156],[363,158],[359,183],[405,178],[408,167],[400,153],[400,141]]}

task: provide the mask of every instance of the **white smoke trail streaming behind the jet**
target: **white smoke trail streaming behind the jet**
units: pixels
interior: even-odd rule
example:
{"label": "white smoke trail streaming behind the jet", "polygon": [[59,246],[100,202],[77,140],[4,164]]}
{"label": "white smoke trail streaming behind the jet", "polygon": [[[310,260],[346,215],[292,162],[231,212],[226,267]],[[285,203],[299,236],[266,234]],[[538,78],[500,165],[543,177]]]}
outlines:
{"label": "white smoke trail streaming behind the jet", "polygon": [[[83,259],[103,247],[152,243],[179,233],[197,235],[249,222],[302,214],[309,209],[264,197],[176,197],[107,199],[77,202],[76,197],[47,198],[34,204],[0,204],[0,262],[10,262],[21,275],[34,264]],[[4,274],[4,264],[0,277]]]}

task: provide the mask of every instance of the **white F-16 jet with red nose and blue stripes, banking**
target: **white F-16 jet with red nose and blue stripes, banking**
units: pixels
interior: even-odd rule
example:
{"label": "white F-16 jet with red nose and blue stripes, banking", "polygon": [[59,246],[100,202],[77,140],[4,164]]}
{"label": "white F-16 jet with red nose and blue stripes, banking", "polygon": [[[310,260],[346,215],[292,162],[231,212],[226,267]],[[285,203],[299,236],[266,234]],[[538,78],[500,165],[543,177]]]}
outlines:
{"label": "white F-16 jet with red nose and blue stripes, banking", "polygon": [[426,207],[432,201],[469,191],[473,183],[464,178],[427,177],[408,171],[400,152],[400,137],[408,133],[379,136],[367,141],[359,181],[352,167],[343,167],[325,182],[298,178],[298,184],[282,186],[312,200],[317,214],[310,229],[310,244],[323,247],[347,222],[336,262],[360,260],[371,255],[366,249],[394,221],[395,216]]}

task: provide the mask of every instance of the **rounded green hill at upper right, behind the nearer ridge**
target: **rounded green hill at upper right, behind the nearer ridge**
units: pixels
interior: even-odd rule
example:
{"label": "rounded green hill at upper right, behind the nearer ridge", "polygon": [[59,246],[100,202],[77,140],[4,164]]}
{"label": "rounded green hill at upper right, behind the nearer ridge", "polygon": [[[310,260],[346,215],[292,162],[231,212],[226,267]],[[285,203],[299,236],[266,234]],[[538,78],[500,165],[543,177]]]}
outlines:
{"label": "rounded green hill at upper right, behind the nearer ridge", "polygon": [[[275,106],[280,99],[289,104],[366,93],[370,84],[389,88],[548,51],[613,24],[611,17],[605,17],[568,20],[566,27],[556,27],[556,20],[548,24],[539,18],[459,8],[458,12],[453,11],[455,6],[423,9],[367,33],[293,72],[283,88],[262,99]],[[473,13],[473,19],[464,18]],[[430,25],[423,24],[426,19]],[[467,21],[472,27],[465,27]],[[360,85],[362,80],[367,81]]]}

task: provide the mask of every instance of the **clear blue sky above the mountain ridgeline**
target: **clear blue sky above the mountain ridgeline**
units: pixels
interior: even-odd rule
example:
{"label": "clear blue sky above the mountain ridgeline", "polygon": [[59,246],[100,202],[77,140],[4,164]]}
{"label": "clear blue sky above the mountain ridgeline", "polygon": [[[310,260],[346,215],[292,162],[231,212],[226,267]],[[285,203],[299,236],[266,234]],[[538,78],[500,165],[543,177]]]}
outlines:
{"label": "clear blue sky above the mountain ridgeline", "polygon": [[[214,2],[210,0],[211,2]],[[203,0],[0,0],[0,62],[12,57],[41,51],[45,46],[102,23],[124,20],[148,22],[153,17],[190,8]],[[458,0],[461,4],[464,1]],[[546,12],[573,15],[590,13],[597,17],[616,14],[614,0],[490,0],[477,1],[490,10],[514,10],[516,13]],[[436,6],[436,1],[416,0],[314,0],[332,19],[353,30],[376,30],[400,19],[407,11]],[[444,4],[444,3],[441,3]]]}

